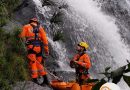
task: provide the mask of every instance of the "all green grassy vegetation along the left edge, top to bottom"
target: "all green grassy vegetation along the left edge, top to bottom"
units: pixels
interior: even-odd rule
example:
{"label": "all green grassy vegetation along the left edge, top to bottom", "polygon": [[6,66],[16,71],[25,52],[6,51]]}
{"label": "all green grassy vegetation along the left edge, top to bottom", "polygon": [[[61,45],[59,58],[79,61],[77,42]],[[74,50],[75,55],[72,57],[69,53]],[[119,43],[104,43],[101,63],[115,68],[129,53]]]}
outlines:
{"label": "all green grassy vegetation along the left edge, top to bottom", "polygon": [[18,37],[19,28],[5,32],[5,26],[13,16],[20,0],[0,0],[0,90],[11,90],[17,81],[29,79],[26,52]]}

